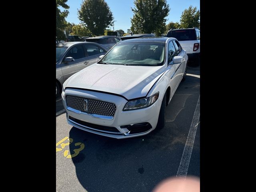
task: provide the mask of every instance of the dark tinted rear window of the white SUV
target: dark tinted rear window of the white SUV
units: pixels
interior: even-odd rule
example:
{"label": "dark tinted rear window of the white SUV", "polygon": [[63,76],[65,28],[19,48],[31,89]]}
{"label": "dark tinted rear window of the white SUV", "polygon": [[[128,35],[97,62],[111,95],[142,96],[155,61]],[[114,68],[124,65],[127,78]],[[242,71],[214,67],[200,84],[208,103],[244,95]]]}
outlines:
{"label": "dark tinted rear window of the white SUV", "polygon": [[171,30],[166,37],[174,37],[178,41],[191,41],[196,40],[196,31],[194,29]]}

